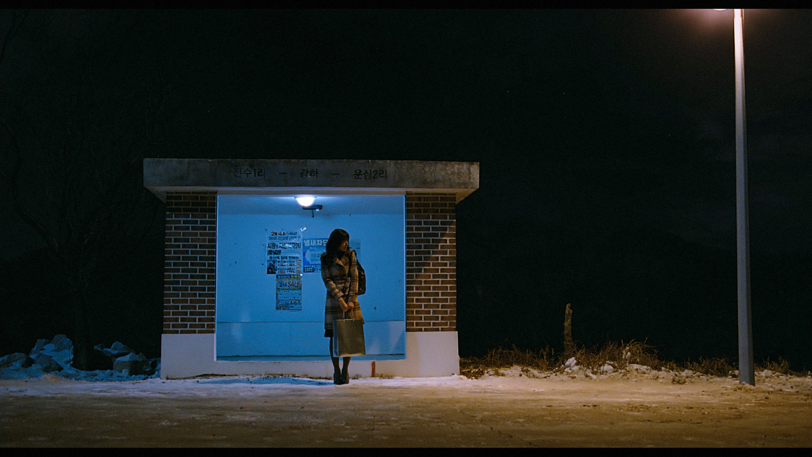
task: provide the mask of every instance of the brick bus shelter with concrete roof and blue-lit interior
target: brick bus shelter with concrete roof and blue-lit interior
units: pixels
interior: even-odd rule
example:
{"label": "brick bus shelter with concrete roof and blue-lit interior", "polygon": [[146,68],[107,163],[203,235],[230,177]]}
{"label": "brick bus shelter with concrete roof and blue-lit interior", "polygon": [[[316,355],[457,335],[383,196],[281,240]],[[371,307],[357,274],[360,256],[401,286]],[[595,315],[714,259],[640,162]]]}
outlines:
{"label": "brick bus shelter with concrete roof and blue-lit interior", "polygon": [[455,208],[478,163],[145,159],[144,185],[166,202],[162,377],[330,377],[318,257],[334,228],[367,276],[351,376],[459,373]]}

